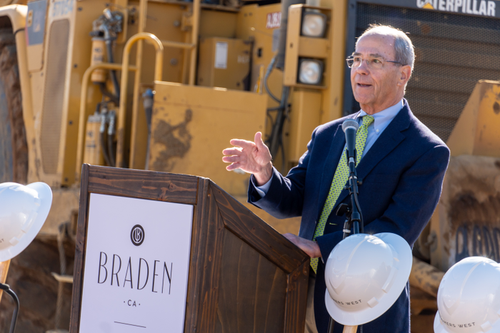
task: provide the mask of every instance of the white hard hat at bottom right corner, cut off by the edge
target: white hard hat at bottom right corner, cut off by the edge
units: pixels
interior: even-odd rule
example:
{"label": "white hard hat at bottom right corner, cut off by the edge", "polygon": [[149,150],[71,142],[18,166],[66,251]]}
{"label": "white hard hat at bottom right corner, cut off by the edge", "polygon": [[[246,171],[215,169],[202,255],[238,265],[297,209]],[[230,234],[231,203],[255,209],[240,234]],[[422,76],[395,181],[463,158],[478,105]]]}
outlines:
{"label": "white hard hat at bottom right corner, cut off by the edge", "polygon": [[439,285],[434,332],[500,332],[500,265],[467,257]]}

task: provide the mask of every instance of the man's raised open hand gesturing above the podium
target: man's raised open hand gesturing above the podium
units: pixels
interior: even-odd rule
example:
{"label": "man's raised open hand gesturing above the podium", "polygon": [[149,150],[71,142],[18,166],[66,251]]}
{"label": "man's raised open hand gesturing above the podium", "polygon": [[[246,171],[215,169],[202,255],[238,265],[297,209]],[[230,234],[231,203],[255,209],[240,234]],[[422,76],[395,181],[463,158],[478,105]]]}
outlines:
{"label": "man's raised open hand gesturing above the podium", "polygon": [[261,186],[271,179],[273,165],[269,148],[262,141],[262,133],[255,133],[254,141],[240,139],[229,141],[235,147],[222,150],[224,154],[222,160],[231,163],[226,167],[226,170],[231,171],[239,168],[246,173],[253,173],[256,185]]}

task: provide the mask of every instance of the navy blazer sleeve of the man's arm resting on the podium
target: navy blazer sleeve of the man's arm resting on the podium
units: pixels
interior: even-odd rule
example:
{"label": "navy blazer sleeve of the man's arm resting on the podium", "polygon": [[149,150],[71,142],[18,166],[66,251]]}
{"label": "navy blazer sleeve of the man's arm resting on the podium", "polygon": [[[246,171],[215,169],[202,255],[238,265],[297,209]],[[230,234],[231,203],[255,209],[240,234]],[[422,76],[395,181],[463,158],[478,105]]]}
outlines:
{"label": "navy blazer sleeve of the man's arm resting on the podium", "polygon": [[[436,209],[448,163],[449,149],[446,145],[436,145],[427,150],[401,175],[384,214],[366,224],[364,232],[372,235],[392,232],[413,247]],[[342,240],[342,235],[341,231],[331,232],[316,239],[324,262]]]}

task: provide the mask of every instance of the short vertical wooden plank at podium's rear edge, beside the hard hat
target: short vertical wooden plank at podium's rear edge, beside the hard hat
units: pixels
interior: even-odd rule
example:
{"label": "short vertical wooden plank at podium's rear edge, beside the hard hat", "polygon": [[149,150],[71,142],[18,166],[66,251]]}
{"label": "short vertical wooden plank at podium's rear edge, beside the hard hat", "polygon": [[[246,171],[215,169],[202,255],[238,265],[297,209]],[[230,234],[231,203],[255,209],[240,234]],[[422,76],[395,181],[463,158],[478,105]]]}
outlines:
{"label": "short vertical wooden plank at podium's rear edge, beside the hard hat", "polygon": [[307,287],[309,280],[309,260],[288,275],[286,290],[285,331],[302,333],[306,325]]}

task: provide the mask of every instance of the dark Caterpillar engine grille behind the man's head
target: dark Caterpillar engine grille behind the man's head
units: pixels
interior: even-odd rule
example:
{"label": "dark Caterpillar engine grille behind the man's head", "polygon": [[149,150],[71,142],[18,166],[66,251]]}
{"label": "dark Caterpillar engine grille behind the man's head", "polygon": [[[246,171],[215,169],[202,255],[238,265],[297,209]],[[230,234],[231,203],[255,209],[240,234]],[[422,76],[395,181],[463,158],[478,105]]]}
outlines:
{"label": "dark Caterpillar engine grille behind the man's head", "polygon": [[[415,116],[444,141],[477,81],[500,79],[499,19],[358,3],[356,37],[369,24],[409,33],[416,57],[405,97]],[[351,98],[354,113],[359,103]]]}

